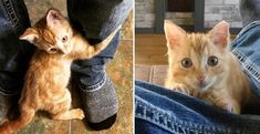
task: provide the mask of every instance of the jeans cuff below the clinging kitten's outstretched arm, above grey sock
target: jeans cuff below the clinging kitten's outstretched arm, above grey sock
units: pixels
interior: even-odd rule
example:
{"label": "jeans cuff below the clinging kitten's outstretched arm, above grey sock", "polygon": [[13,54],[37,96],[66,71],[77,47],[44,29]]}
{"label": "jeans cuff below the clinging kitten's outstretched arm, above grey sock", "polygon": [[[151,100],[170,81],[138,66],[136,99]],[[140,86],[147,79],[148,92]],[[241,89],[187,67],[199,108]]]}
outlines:
{"label": "jeans cuff below the clinging kitten's outstretched arm, above grey sock", "polygon": [[[72,69],[72,78],[77,81],[81,89],[91,90],[93,85],[103,83],[105,75],[105,63],[111,61],[119,43],[119,32],[111,41],[108,47],[100,54],[90,60],[74,61]],[[106,55],[107,54],[107,55]]]}

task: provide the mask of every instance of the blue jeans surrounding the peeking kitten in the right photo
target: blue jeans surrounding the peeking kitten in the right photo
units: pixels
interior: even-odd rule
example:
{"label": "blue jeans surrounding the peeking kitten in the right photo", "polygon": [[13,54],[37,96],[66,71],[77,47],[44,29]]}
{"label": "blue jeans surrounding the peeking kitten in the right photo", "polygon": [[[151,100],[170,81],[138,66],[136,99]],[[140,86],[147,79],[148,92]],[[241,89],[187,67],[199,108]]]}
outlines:
{"label": "blue jeans surrounding the peeking kitten in the right photo", "polygon": [[[252,92],[260,99],[260,21],[247,25],[230,50],[248,74]],[[258,105],[254,105],[258,107]],[[249,111],[260,113],[260,111]],[[162,86],[135,82],[136,134],[259,134],[260,115],[232,114],[196,97]]]}

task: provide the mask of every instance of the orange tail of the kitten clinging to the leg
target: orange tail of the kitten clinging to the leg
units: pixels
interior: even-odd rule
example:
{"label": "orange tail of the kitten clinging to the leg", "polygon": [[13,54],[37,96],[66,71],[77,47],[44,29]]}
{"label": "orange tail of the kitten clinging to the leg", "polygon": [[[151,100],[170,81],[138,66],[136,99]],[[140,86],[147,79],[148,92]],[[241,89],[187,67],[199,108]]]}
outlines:
{"label": "orange tail of the kitten clinging to the leg", "polygon": [[34,110],[22,110],[19,118],[14,121],[8,121],[0,126],[0,134],[12,134],[19,128],[30,123],[35,114]]}

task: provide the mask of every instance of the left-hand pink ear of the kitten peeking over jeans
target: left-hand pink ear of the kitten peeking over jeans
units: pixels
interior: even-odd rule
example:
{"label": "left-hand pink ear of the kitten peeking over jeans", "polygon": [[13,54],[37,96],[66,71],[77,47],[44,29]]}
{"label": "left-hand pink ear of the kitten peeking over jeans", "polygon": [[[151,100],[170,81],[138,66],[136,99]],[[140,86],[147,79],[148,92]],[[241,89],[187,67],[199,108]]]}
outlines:
{"label": "left-hand pink ear of the kitten peeking over jeans", "polygon": [[167,40],[167,47],[170,49],[179,45],[186,34],[186,32],[181,28],[177,27],[169,20],[165,20],[164,30]]}

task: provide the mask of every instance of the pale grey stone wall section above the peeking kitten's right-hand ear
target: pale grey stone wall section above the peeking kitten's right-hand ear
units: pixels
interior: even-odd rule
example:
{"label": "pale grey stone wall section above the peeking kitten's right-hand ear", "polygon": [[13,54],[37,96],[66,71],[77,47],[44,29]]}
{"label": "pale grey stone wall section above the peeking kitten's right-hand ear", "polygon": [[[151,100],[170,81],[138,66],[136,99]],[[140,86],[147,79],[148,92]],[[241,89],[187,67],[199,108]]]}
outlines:
{"label": "pale grey stone wall section above the peeking kitten's right-hand ear", "polygon": [[212,28],[221,20],[229,22],[230,28],[241,28],[239,0],[205,0],[205,28]]}

